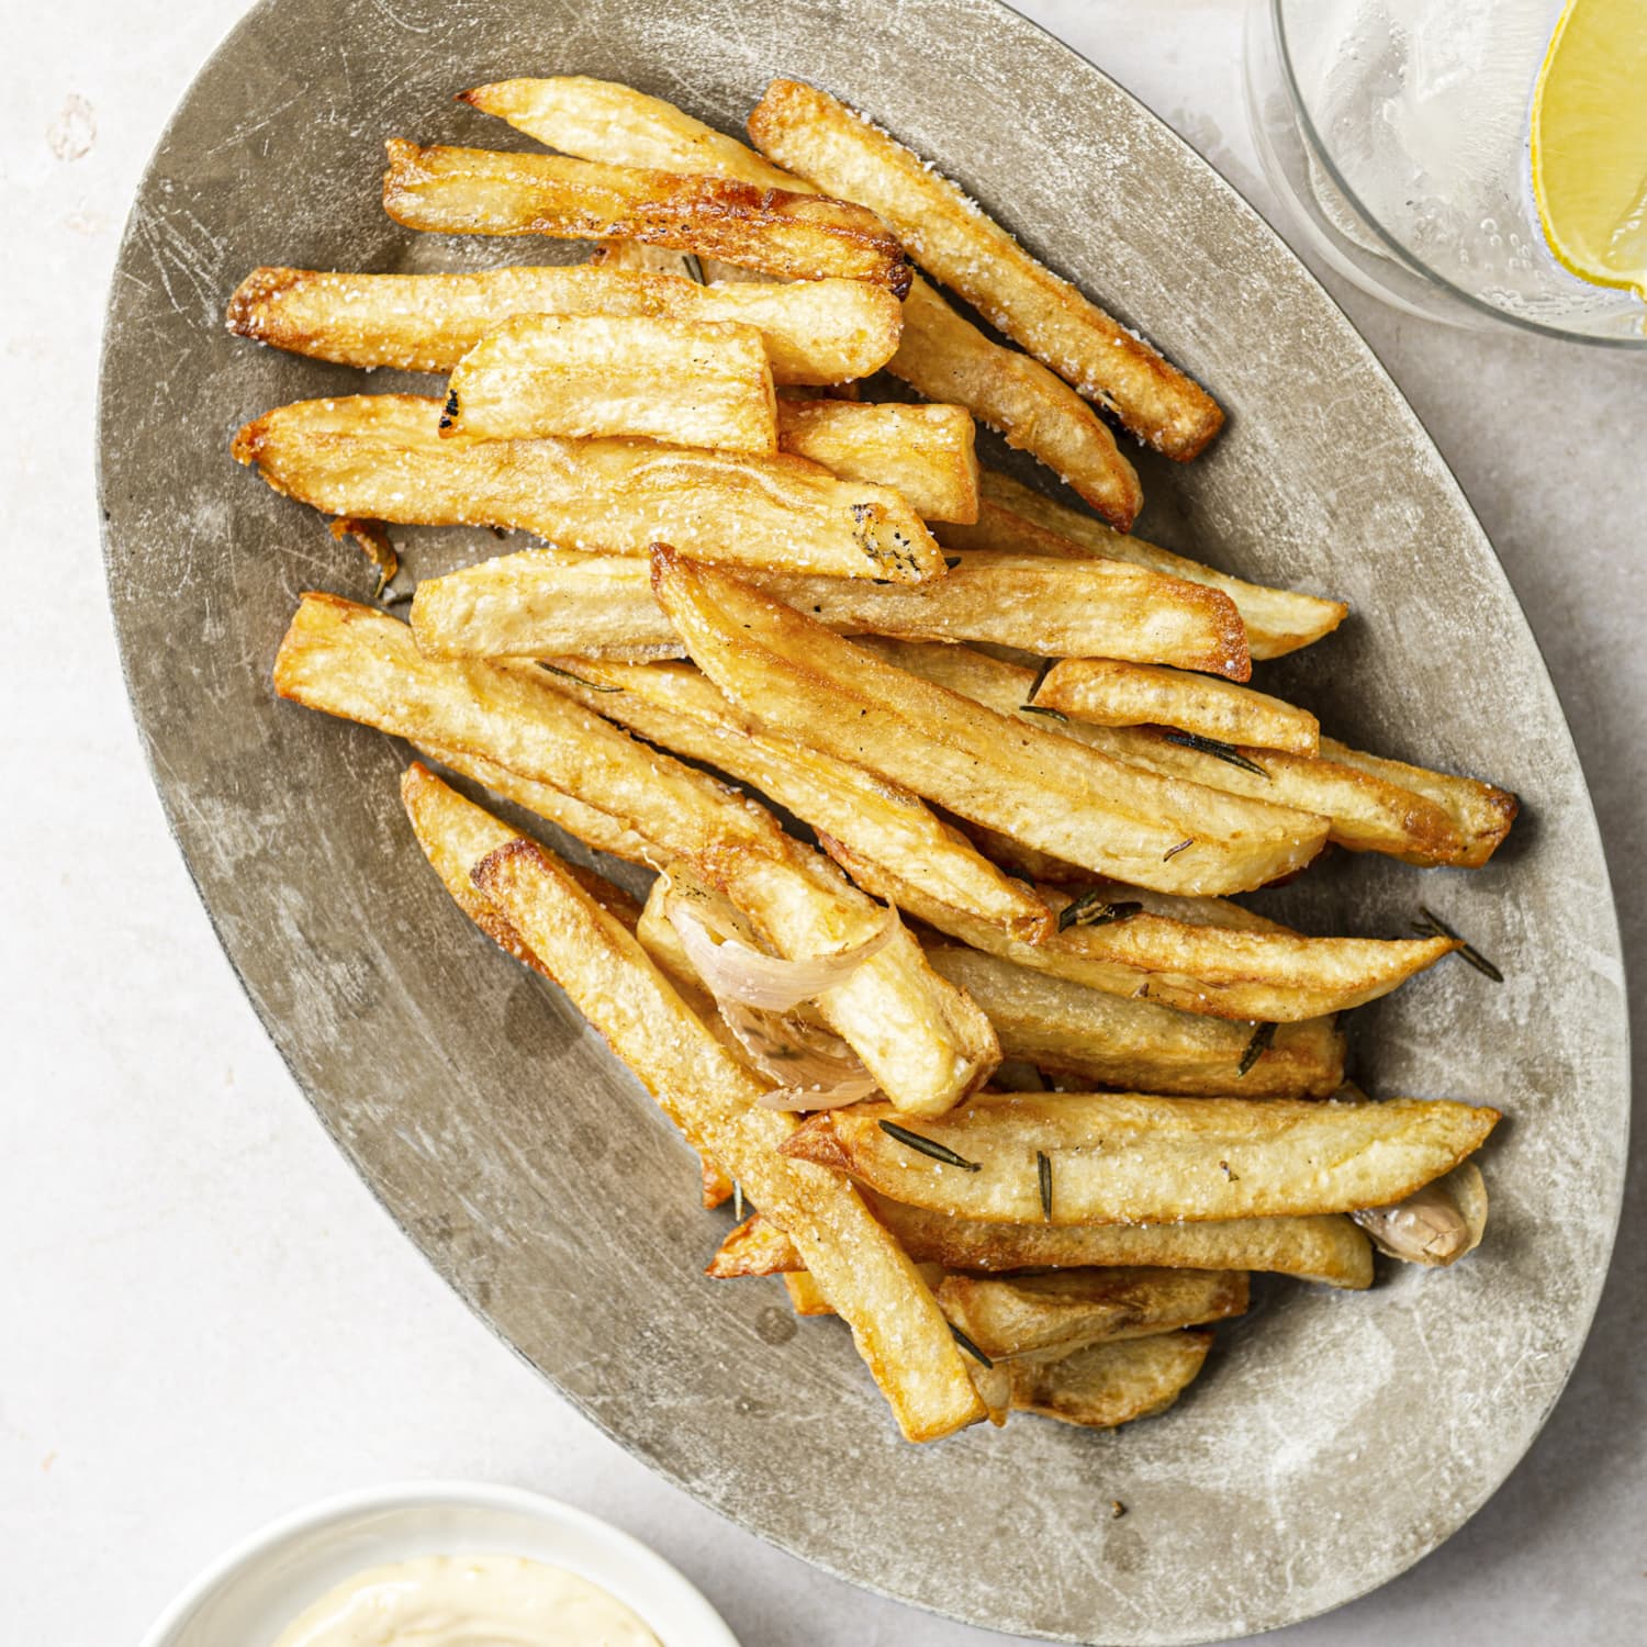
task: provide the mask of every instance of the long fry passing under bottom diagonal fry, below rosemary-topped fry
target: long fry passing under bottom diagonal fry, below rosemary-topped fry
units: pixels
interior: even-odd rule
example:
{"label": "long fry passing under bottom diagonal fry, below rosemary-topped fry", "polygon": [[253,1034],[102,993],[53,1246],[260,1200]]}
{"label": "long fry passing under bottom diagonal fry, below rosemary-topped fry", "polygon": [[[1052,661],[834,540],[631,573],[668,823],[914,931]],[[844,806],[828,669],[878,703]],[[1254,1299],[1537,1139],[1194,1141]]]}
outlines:
{"label": "long fry passing under bottom diagonal fry, below rosemary-topped fry", "polygon": [[[1323,1286],[1372,1286],[1372,1243],[1342,1214],[1308,1219],[1225,1219],[1202,1224],[985,1224],[903,1206],[865,1191],[875,1215],[911,1258],[947,1270],[1146,1265],[1260,1270]],[[720,1245],[707,1275],[779,1275],[800,1265],[794,1243],[753,1214]]]}

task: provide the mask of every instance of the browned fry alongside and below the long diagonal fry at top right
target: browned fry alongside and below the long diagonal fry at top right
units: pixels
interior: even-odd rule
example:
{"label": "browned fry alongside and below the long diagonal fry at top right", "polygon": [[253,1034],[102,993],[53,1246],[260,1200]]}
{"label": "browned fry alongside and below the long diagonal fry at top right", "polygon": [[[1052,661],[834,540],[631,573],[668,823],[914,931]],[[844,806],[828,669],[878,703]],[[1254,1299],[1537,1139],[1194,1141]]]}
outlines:
{"label": "browned fry alongside and below the long diagonal fry at top right", "polygon": [[1038,359],[1003,349],[962,320],[924,280],[904,298],[904,331],[886,371],[929,400],[967,407],[1072,486],[1117,530],[1143,507],[1138,471],[1108,425]]}

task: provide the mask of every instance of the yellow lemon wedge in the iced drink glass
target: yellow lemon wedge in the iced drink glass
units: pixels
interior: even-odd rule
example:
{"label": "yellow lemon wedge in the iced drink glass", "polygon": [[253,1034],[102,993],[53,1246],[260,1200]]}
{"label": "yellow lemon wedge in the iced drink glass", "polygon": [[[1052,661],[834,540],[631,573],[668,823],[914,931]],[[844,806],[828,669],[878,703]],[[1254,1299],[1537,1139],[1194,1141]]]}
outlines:
{"label": "yellow lemon wedge in the iced drink glass", "polygon": [[1556,260],[1647,300],[1647,0],[1566,0],[1533,89],[1532,170]]}

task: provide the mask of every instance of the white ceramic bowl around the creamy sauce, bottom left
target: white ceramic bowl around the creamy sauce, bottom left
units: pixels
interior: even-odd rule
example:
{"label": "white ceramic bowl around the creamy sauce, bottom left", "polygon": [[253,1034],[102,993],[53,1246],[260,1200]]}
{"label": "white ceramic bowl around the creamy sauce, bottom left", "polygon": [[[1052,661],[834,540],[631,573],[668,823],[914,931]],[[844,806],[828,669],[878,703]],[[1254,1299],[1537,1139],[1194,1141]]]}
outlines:
{"label": "white ceramic bowl around the creamy sauce, bottom left", "polygon": [[628,1533],[535,1492],[468,1481],[367,1487],[283,1515],[212,1561],[142,1647],[268,1647],[362,1568],[484,1553],[530,1556],[600,1584],[664,1647],[738,1647],[703,1596]]}

